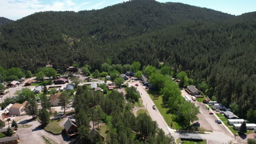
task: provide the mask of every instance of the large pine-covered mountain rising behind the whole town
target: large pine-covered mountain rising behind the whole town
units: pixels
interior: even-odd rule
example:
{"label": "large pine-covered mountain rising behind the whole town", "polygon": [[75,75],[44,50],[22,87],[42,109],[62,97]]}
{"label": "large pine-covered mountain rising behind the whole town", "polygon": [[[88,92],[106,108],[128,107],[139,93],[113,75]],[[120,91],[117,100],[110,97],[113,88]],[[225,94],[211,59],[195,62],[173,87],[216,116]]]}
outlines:
{"label": "large pine-covered mountain rising behind the whole town", "polygon": [[0,27],[4,68],[94,69],[165,62],[185,70],[210,98],[236,113],[256,107],[256,12],[233,16],[182,3],[125,2],[101,10],[36,13]]}

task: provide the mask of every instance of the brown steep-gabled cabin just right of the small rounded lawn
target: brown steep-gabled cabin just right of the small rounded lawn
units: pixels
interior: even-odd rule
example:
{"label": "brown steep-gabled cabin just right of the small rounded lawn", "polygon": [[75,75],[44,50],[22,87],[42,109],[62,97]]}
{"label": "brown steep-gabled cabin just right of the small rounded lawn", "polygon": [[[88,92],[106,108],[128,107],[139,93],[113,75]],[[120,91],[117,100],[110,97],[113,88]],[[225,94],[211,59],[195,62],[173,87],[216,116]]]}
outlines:
{"label": "brown steep-gabled cabin just right of the small rounded lawn", "polygon": [[75,123],[74,121],[71,121],[71,119],[69,119],[69,118],[67,119],[66,123],[64,124],[64,128],[65,128],[65,131],[66,131],[66,134],[68,135],[68,137],[78,134],[77,123]]}

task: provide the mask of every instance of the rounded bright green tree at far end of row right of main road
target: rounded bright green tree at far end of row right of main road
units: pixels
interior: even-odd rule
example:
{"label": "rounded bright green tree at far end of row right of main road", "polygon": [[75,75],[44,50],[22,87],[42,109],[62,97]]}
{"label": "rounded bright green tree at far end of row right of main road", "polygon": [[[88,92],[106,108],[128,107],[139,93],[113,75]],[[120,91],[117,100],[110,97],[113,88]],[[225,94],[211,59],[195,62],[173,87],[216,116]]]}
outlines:
{"label": "rounded bright green tree at far end of row right of main road", "polygon": [[153,73],[149,76],[149,83],[156,89],[161,89],[165,85],[165,76],[159,73]]}

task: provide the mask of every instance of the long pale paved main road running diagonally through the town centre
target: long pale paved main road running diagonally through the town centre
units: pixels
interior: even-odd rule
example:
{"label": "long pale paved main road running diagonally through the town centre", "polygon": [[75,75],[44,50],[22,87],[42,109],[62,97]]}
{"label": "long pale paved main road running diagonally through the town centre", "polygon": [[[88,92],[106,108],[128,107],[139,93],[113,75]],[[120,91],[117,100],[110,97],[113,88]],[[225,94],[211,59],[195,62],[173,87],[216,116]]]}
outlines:
{"label": "long pale paved main road running diagonally through the town centre", "polygon": [[[156,121],[156,123],[158,123],[158,127],[161,128],[162,130],[164,130],[166,134],[171,133],[171,135],[175,139],[177,139],[178,134],[174,133],[174,130],[171,129],[170,127],[168,127],[167,123],[165,122],[164,118],[162,117],[162,115],[158,111],[158,109],[156,109],[156,110],[152,109],[153,105],[155,105],[155,104],[152,101],[152,99],[149,97],[148,93],[144,90],[144,86],[142,86],[141,83],[139,83],[138,81],[128,82],[128,83],[129,83],[129,86],[135,86],[136,83],[139,85],[137,87],[137,89],[138,89],[139,93],[141,93],[141,98],[143,100],[143,104],[147,106],[146,108],[149,112],[150,117],[153,119],[153,121]],[[156,108],[158,108],[158,107],[156,107]]]}

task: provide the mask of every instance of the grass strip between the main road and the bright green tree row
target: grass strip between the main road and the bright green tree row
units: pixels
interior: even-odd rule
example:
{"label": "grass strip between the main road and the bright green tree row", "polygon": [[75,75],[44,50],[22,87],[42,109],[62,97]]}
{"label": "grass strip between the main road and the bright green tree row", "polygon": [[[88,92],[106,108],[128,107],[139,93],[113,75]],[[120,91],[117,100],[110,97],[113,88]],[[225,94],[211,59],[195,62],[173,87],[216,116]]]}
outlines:
{"label": "grass strip between the main road and the bright green tree row", "polygon": [[[154,95],[155,95],[154,93],[155,92],[153,92],[153,91],[148,91],[150,98],[154,101],[156,108],[159,110],[162,117],[164,117],[165,122],[169,125],[169,127],[173,128],[173,129],[181,129],[181,127],[178,125],[178,123],[172,121],[172,114],[167,113],[168,109],[165,107],[162,107],[161,95],[159,95],[159,97],[157,99],[154,99]],[[149,109],[152,109],[152,107],[149,107]]]}

